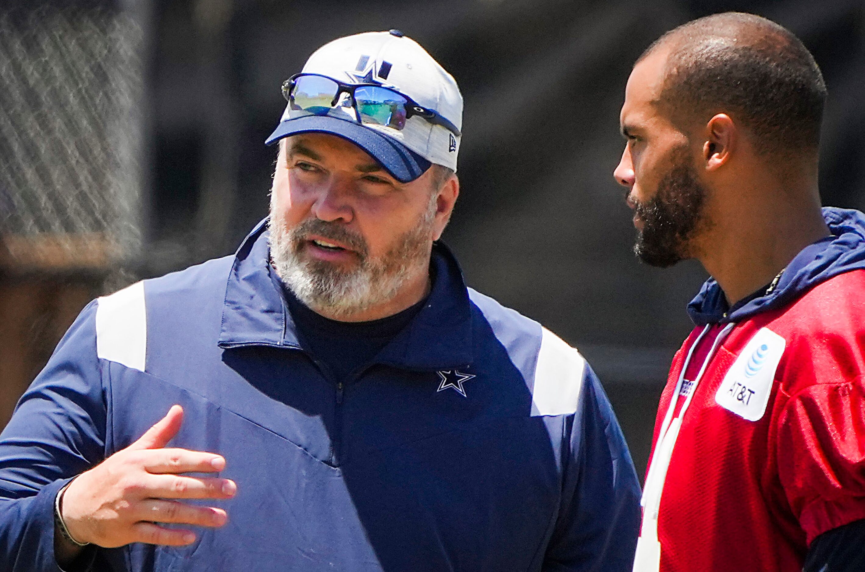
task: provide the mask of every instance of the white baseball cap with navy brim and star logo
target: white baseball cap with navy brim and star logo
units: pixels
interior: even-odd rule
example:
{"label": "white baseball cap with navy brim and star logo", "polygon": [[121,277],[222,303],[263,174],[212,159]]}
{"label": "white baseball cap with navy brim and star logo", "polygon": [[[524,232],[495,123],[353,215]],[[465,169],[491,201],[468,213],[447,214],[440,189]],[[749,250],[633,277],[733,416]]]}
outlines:
{"label": "white baseball cap with navy brim and star logo", "polygon": [[335,93],[330,107],[317,107],[315,112],[292,105],[290,99],[266,144],[298,133],[324,132],[355,143],[398,181],[417,179],[430,163],[457,170],[463,121],[457,82],[399,30],[349,35],[318,48],[303,72],[285,82],[286,98],[303,74],[325,76],[347,86],[387,87],[407,97],[409,115],[396,127],[376,124],[357,111],[344,90]]}

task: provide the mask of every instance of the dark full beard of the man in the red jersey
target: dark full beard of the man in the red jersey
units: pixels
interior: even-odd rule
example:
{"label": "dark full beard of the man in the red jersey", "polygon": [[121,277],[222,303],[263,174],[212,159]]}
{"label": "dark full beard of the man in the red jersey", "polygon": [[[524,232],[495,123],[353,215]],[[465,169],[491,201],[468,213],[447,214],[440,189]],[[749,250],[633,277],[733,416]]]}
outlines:
{"label": "dark full beard of the man in the red jersey", "polygon": [[673,162],[658,183],[657,194],[636,206],[643,230],[638,231],[634,254],[659,268],[693,257],[693,238],[708,225],[703,213],[707,190],[689,163],[687,148],[677,150]]}

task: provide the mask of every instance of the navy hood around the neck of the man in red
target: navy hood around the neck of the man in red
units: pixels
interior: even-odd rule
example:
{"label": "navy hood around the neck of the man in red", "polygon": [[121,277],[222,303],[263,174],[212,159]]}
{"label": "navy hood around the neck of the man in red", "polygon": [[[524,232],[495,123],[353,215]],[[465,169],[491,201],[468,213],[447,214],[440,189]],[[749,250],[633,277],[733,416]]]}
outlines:
{"label": "navy hood around the neck of the man in red", "polygon": [[865,215],[835,207],[823,208],[831,236],[806,246],[794,257],[773,289],[759,289],[730,308],[721,286],[709,278],[688,305],[697,326],[742,321],[789,304],[833,276],[865,268]]}

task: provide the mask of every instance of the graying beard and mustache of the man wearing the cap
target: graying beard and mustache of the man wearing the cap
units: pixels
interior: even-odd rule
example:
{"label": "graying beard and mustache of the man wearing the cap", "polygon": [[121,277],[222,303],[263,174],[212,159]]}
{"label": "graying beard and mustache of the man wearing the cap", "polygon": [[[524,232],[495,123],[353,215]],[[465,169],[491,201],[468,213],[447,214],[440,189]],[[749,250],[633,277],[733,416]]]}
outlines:
{"label": "graying beard and mustache of the man wearing the cap", "polygon": [[[390,302],[413,277],[429,271],[432,224],[438,194],[433,193],[418,223],[403,233],[381,257],[371,257],[366,240],[343,224],[311,218],[286,229],[271,201],[270,246],[274,270],[300,302],[336,319],[358,315]],[[354,268],[306,257],[310,235],[330,238],[355,251]]]}

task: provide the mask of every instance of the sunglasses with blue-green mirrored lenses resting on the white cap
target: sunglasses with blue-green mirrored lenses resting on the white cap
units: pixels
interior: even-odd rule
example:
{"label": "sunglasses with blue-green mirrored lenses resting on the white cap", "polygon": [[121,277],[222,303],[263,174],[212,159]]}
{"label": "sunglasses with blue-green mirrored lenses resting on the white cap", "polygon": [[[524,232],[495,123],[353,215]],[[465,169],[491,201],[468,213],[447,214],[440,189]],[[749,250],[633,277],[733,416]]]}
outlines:
{"label": "sunglasses with blue-green mirrored lenses resting on the white cap", "polygon": [[[367,75],[371,79],[371,69]],[[408,118],[417,115],[433,125],[441,125],[456,137],[460,135],[457,126],[438,111],[376,83],[346,84],[317,73],[298,73],[283,83],[282,93],[289,103],[289,111],[294,113],[329,115],[331,110],[351,107],[355,111],[354,120],[359,124],[380,125],[400,131]],[[343,94],[348,99],[343,98]]]}

